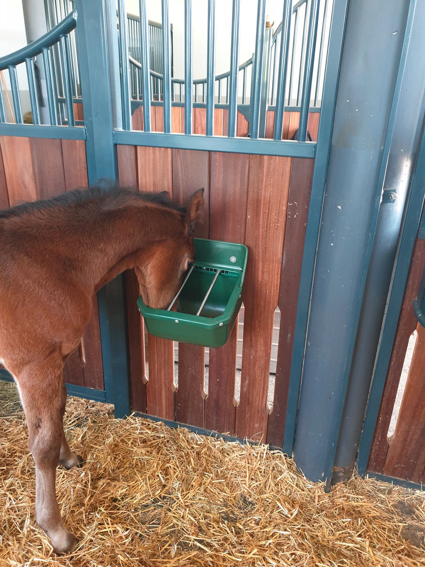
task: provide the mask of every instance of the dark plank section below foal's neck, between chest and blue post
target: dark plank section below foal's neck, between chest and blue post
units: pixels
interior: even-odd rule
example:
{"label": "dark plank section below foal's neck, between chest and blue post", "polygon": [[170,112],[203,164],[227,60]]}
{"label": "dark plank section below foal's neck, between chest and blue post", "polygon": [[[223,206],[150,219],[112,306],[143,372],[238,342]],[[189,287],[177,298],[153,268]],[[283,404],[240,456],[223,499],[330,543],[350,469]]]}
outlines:
{"label": "dark plank section below foal's neck, between chest and blue post", "polygon": [[100,340],[99,304],[97,294],[93,298],[90,321],[84,333],[84,350],[86,366],[84,366],[84,385],[95,390],[104,390],[102,344]]}

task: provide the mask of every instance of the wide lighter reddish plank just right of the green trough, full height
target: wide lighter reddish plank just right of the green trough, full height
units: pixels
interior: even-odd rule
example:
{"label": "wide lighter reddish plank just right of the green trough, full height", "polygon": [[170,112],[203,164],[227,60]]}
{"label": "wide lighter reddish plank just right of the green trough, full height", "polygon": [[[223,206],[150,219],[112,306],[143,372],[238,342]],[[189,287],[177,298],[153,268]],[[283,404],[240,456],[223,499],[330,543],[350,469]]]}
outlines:
{"label": "wide lighter reddish plank just right of the green trough, full height", "polygon": [[251,155],[244,284],[244,342],[236,435],[266,439],[271,337],[278,305],[291,158]]}

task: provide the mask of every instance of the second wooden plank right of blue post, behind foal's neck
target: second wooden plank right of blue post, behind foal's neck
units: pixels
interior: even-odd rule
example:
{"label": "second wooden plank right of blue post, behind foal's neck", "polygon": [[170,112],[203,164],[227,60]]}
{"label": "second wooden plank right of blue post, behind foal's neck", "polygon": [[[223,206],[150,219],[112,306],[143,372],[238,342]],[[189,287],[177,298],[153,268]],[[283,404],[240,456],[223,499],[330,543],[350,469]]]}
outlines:
{"label": "second wooden plank right of blue post, behind foal's neck", "polygon": [[[172,195],[171,149],[138,146],[137,165],[139,191],[167,191]],[[148,334],[148,351],[147,413],[173,420],[175,417],[174,342]]]}

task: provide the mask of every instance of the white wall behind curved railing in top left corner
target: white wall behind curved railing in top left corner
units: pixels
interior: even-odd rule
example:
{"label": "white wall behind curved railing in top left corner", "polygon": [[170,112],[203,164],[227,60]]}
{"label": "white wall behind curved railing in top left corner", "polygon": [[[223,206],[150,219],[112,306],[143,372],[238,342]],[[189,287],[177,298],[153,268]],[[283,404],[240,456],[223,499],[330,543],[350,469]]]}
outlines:
{"label": "white wall behind curved railing in top left corner", "polygon": [[[27,37],[25,36],[24,15],[22,11],[22,2],[20,0],[0,0],[0,57],[12,53],[27,45]],[[27,71],[25,64],[16,67],[18,71],[18,83],[20,87],[22,113],[31,110],[29,102]],[[8,71],[3,71],[6,79],[7,90],[12,103],[12,95],[10,93],[10,81]],[[6,97],[4,97],[6,99]],[[7,101],[5,109],[7,113],[6,120],[10,121],[8,114]]]}

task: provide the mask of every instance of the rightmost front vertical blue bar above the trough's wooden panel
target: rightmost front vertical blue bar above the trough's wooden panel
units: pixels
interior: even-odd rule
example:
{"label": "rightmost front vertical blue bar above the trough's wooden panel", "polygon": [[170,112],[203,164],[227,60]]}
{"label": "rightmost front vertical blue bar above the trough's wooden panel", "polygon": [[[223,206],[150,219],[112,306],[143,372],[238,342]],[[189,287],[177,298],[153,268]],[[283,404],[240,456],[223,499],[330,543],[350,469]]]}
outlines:
{"label": "rightmost front vertical blue bar above the trough's wooden panel", "polygon": [[308,26],[307,57],[305,58],[303,96],[301,98],[300,123],[298,126],[298,141],[305,142],[307,136],[308,111],[310,108],[311,83],[313,80],[313,65],[315,63],[317,22],[319,0],[312,0],[310,23]]}

